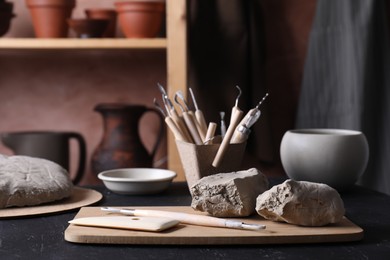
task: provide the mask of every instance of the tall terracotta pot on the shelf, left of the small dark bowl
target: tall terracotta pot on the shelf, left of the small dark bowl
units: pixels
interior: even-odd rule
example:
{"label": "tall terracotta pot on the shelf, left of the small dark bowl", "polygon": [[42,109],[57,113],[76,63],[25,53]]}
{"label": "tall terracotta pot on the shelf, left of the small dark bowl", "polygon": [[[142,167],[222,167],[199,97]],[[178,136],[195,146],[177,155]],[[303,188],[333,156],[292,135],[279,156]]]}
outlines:
{"label": "tall terracotta pot on the shelf, left of the small dark bowl", "polygon": [[68,36],[67,19],[71,17],[75,0],[26,0],[35,35],[38,38]]}

